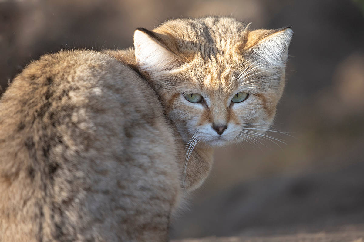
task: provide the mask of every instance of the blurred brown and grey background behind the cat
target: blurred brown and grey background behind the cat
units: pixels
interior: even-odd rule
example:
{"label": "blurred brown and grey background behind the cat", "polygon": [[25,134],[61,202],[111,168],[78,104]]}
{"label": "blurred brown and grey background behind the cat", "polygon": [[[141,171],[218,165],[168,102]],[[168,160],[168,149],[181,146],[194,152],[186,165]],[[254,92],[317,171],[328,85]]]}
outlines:
{"label": "blurred brown and grey background behind the cat", "polygon": [[206,15],[292,26],[273,125],[286,134],[217,150],[172,238],[364,228],[362,0],[0,0],[0,84],[46,52],[123,49],[137,27]]}

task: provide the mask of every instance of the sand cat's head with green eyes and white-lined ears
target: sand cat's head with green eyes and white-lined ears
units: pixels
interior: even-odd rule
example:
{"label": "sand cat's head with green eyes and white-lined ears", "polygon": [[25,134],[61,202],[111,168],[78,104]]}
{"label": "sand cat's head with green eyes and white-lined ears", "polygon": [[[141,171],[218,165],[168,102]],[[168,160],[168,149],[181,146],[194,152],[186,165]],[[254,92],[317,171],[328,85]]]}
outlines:
{"label": "sand cat's head with green eyes and white-lined ears", "polygon": [[137,67],[182,138],[221,146],[264,132],[282,95],[292,30],[228,17],[170,20],[134,33]]}

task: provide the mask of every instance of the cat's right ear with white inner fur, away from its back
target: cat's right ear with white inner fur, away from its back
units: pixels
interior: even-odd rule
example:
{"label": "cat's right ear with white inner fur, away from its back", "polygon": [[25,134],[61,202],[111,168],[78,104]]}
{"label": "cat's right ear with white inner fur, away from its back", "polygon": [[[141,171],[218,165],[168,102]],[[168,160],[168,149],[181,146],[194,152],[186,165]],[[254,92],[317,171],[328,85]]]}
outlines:
{"label": "cat's right ear with white inner fur, away from its back", "polygon": [[[288,57],[288,46],[293,31],[290,27],[278,30],[254,30],[250,32],[249,38],[255,44],[249,50],[249,56],[255,61],[271,65],[282,66]],[[261,39],[260,39],[261,38]],[[257,39],[260,39],[257,41]],[[250,41],[252,42],[252,41]]]}

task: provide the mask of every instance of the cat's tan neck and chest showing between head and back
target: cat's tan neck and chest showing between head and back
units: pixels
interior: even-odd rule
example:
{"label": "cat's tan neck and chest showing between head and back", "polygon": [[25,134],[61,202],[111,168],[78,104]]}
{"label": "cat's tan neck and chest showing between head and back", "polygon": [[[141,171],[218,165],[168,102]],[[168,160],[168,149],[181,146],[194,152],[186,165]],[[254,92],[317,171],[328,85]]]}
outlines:
{"label": "cat's tan neck and chest showing between head and back", "polygon": [[[125,50],[104,50],[103,52],[116,58],[116,60],[122,62],[124,65],[129,66],[132,70],[139,73],[143,78],[146,79],[147,83],[154,90],[159,100],[162,100],[153,83],[148,81],[148,75],[138,69],[137,62],[135,61],[134,49],[129,48]],[[162,102],[161,104],[163,106]],[[171,124],[171,128],[173,129],[174,133],[179,134],[177,131],[177,127],[169,118],[169,116],[167,114],[165,114],[165,116],[167,118],[167,121]],[[178,135],[176,137],[176,145],[178,146],[176,147],[179,156],[178,165],[182,171],[181,186],[185,188],[187,192],[195,190],[202,184],[202,182],[207,178],[211,171],[213,163],[213,148],[195,147],[191,154],[188,155],[188,149],[186,149],[187,144],[182,139],[181,135]],[[187,155],[189,156],[188,160],[186,159]]]}

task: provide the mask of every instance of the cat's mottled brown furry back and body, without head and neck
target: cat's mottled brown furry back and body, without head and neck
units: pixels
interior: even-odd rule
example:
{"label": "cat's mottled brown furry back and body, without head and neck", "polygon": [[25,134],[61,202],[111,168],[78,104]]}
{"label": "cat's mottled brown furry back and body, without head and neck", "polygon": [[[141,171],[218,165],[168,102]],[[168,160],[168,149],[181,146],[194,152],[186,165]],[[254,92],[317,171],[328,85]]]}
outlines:
{"label": "cat's mottled brown furry back and body, without head and neck", "polygon": [[128,67],[90,51],[43,56],[13,81],[0,114],[0,241],[167,238],[176,144]]}

